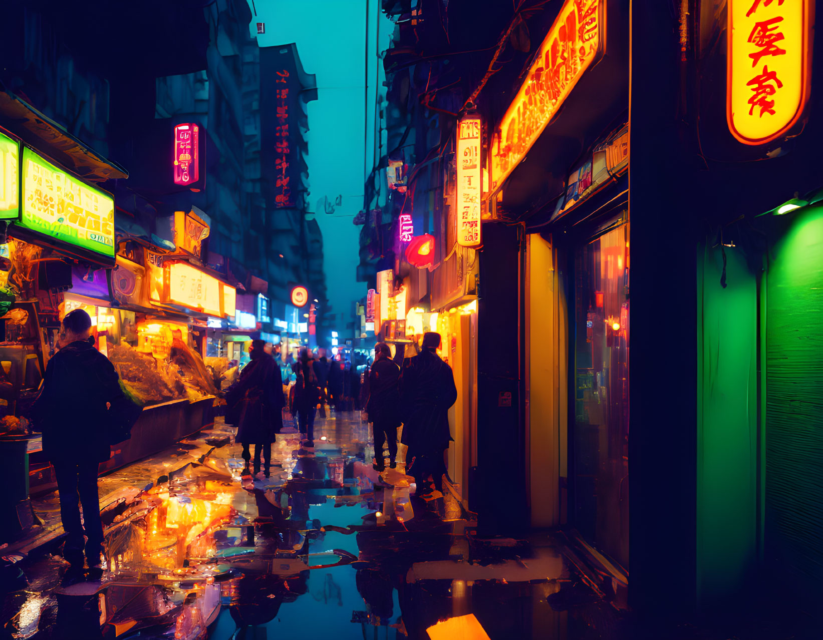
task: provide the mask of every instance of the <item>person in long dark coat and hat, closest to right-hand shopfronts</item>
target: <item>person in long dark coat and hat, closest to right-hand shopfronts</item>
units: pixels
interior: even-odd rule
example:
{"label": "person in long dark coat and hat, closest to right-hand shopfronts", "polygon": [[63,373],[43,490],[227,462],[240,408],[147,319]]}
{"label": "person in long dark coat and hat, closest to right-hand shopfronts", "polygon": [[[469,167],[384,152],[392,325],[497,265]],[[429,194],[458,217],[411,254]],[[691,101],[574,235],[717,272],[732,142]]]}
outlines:
{"label": "person in long dark coat and hat, closest to right-hand shopfronts", "polygon": [[444,452],[452,440],[449,433],[449,408],[458,399],[454,374],[437,355],[440,334],[427,332],[423,336],[420,355],[408,359],[402,371],[403,434],[407,445],[407,469],[417,484],[417,494],[430,492],[431,475],[435,489],[443,490],[446,472]]}

